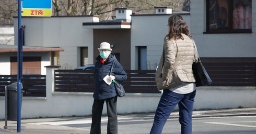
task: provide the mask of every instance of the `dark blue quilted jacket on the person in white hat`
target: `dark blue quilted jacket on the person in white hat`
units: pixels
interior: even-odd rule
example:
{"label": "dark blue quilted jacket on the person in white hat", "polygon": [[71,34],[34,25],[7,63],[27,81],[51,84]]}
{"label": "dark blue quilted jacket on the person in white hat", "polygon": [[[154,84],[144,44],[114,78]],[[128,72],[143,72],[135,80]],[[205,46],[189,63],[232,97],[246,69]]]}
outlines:
{"label": "dark blue quilted jacket on the person in white hat", "polygon": [[114,84],[108,85],[104,82],[103,78],[106,75],[109,75],[111,65],[114,62],[112,74],[115,76],[115,81],[125,81],[127,79],[127,73],[124,71],[123,66],[118,62],[117,58],[115,58],[114,54],[111,53],[109,59],[102,64],[100,62],[100,56],[96,58],[95,63],[95,90],[94,90],[94,99],[97,100],[104,100],[108,98],[112,98],[117,96],[115,92]]}

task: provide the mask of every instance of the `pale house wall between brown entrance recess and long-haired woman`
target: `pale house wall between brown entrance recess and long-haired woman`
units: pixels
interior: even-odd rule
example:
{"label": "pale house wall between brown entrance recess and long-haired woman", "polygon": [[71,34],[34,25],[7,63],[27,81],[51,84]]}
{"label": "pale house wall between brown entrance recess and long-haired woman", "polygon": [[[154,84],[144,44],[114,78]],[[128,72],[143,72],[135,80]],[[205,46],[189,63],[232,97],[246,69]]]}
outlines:
{"label": "pale house wall between brown entrance recess and long-haired woman", "polygon": [[[164,37],[168,34],[168,18],[166,15],[133,15],[131,25],[131,69],[137,69],[136,46],[147,46],[147,61],[157,63],[161,57]],[[190,25],[190,15],[182,17]]]}

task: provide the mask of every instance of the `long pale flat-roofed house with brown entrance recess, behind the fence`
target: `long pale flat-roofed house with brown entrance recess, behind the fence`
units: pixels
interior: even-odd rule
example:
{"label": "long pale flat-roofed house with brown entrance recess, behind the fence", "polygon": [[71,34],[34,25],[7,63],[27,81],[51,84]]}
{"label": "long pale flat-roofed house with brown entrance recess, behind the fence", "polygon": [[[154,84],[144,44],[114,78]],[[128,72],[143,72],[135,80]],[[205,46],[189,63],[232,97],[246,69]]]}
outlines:
{"label": "long pale flat-roofed house with brown entrance recess, behind the fence", "polygon": [[[211,3],[193,1],[190,12],[179,13],[190,26],[201,60],[256,62],[256,46],[253,44],[255,2],[252,1],[251,7],[247,9],[251,10],[251,14],[246,15],[251,15],[248,19],[251,22],[249,29],[232,29],[230,23],[225,31],[220,28],[210,29],[218,22],[208,21],[211,20],[209,16],[212,14],[206,5]],[[226,6],[230,5],[223,7]],[[100,22],[98,16],[22,17],[22,25],[26,25],[25,46],[61,47],[65,51],[59,53],[60,65],[67,63],[76,68],[94,63],[100,42],[107,41],[114,45],[113,52],[120,57],[125,69],[155,69],[162,52],[159,46],[162,46],[164,36],[168,32],[167,19],[170,13],[177,13],[169,7],[156,7],[153,14],[147,15],[132,14],[131,9],[127,8],[116,10],[116,20],[104,22]],[[17,25],[17,18],[15,19]]]}

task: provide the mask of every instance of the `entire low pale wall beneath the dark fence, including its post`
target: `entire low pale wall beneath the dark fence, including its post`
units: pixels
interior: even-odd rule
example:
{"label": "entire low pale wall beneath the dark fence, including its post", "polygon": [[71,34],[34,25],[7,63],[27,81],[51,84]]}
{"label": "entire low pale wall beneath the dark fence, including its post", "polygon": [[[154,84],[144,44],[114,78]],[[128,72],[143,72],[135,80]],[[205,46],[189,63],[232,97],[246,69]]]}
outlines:
{"label": "entire low pale wall beneath the dark fence, including its post", "polygon": [[[94,99],[87,92],[54,92],[54,69],[46,69],[46,98],[22,97],[21,118],[91,115]],[[126,93],[118,98],[118,113],[155,112],[161,93]],[[246,96],[246,97],[245,97]],[[255,87],[197,87],[194,110],[256,107]],[[5,118],[5,97],[0,97],[0,119]],[[177,108],[175,110],[178,110]],[[106,106],[103,114],[107,114]]]}

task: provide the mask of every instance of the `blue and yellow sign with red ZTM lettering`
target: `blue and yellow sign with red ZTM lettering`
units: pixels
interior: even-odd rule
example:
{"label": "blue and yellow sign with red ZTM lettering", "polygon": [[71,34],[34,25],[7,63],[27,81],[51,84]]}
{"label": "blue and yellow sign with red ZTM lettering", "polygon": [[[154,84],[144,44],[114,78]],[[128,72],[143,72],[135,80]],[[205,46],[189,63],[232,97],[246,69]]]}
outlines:
{"label": "blue and yellow sign with red ZTM lettering", "polygon": [[23,0],[21,7],[21,16],[52,16],[52,0]]}

